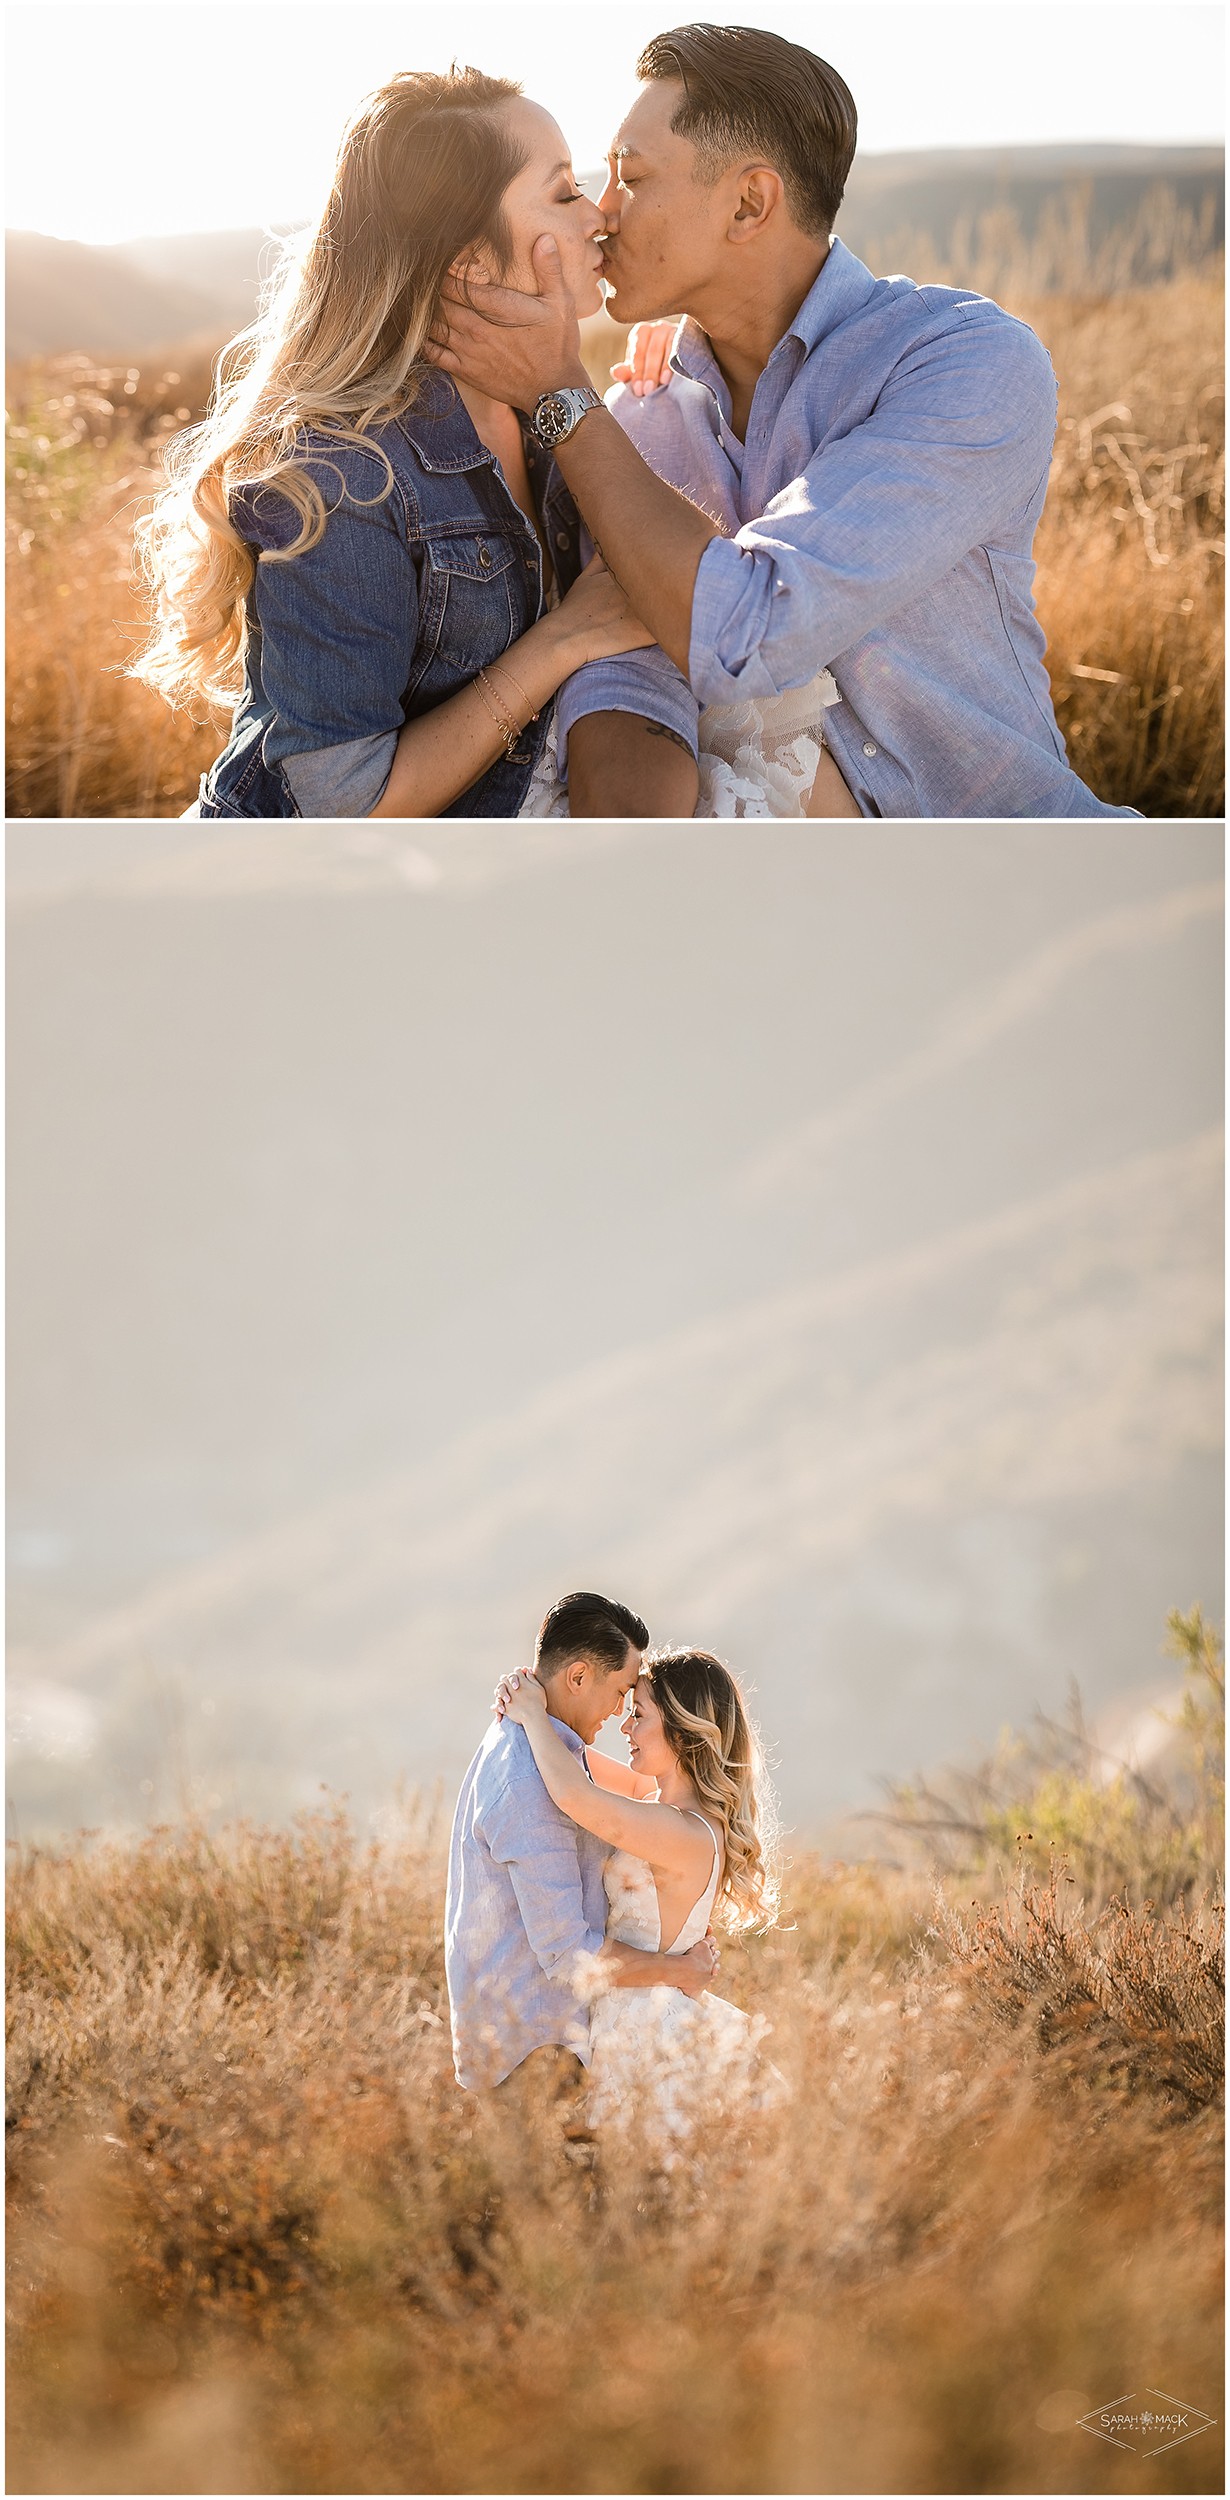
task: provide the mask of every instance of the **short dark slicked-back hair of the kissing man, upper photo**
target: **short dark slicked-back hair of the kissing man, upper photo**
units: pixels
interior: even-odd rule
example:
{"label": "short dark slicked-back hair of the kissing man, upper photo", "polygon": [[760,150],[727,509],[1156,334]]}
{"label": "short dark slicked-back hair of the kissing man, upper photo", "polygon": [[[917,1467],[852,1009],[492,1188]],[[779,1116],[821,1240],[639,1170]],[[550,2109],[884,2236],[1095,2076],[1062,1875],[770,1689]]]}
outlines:
{"label": "short dark slicked-back hair of the kissing man, upper photo", "polygon": [[682,80],[670,128],[692,140],[698,172],[715,180],[730,158],[772,165],[805,235],[828,235],[855,160],[855,98],[828,60],[760,25],[678,25],[655,35],[638,78]]}

